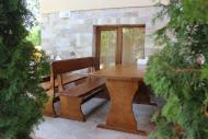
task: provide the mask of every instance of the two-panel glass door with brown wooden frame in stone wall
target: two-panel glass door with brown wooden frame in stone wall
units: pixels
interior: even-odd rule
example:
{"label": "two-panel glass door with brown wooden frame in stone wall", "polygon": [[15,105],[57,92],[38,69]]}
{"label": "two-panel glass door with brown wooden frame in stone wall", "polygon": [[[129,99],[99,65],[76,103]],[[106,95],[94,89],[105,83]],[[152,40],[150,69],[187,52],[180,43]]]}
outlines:
{"label": "two-panel glass door with brown wooden frame in stone wall", "polygon": [[95,26],[95,35],[101,69],[145,58],[145,25]]}

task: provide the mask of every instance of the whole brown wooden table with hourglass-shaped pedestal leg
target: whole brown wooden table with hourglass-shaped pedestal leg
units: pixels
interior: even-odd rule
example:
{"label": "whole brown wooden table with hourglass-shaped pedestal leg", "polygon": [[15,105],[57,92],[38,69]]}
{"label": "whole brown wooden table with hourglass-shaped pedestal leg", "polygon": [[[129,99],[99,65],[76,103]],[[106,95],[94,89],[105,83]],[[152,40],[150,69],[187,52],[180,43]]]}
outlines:
{"label": "whole brown wooden table with hourglass-shaped pedestal leg", "polygon": [[137,129],[137,121],[132,112],[132,100],[143,80],[145,71],[145,66],[137,68],[137,66],[128,65],[115,66],[92,73],[92,76],[106,79],[106,88],[111,97],[109,113],[105,125],[101,124],[97,127],[147,135],[146,131]]}

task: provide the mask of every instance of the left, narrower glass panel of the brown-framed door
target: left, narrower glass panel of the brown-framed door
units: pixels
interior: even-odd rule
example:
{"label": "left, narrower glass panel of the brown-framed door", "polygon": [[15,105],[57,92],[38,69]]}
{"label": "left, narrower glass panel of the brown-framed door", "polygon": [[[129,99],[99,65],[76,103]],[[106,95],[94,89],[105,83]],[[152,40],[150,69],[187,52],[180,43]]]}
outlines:
{"label": "left, narrower glass panel of the brown-framed door", "polygon": [[116,65],[117,30],[101,31],[100,69]]}

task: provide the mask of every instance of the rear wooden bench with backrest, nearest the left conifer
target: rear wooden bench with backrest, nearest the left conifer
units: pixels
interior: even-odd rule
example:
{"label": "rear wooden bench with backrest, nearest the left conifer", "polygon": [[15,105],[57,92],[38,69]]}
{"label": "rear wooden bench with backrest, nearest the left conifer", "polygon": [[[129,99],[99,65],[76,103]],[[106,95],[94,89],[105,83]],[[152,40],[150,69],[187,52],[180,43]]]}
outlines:
{"label": "rear wooden bench with backrest, nearest the left conifer", "polygon": [[[97,67],[99,67],[97,61],[96,61],[96,58],[94,57],[53,61],[50,82],[48,82],[50,85],[48,85],[47,83],[42,84],[46,89],[51,88],[47,92],[49,100],[47,104],[45,105],[44,114],[51,115],[51,116],[56,115],[55,108],[54,108],[54,102],[56,100],[59,100],[59,96],[57,94],[61,92],[62,90],[65,90],[65,86],[63,86],[65,83],[74,82],[74,84],[77,85],[83,82],[82,79],[85,78],[85,76],[80,77],[80,76],[72,74],[68,77],[66,74],[71,73],[72,71],[76,71],[76,70],[81,70],[81,69],[86,69],[86,68],[91,70],[92,68],[96,69]],[[58,86],[58,91],[57,91],[57,86]],[[79,103],[76,103],[76,104],[79,104]]]}

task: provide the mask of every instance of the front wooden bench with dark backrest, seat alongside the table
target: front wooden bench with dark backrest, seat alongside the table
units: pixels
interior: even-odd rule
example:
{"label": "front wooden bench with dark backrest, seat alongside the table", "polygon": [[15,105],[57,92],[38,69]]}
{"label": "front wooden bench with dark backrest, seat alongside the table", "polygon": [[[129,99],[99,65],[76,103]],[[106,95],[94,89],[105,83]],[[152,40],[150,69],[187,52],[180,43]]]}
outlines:
{"label": "front wooden bench with dark backrest, seat alongside the table", "polygon": [[[67,72],[88,69],[93,71],[99,69],[96,59],[93,57],[77,58],[69,60],[54,61],[51,65],[54,77]],[[55,84],[54,84],[55,86]],[[71,89],[62,86],[59,82],[58,97],[60,99],[60,117],[84,121],[81,105],[94,97],[105,89],[105,80],[102,78],[88,77]],[[54,93],[56,97],[56,92]]]}

